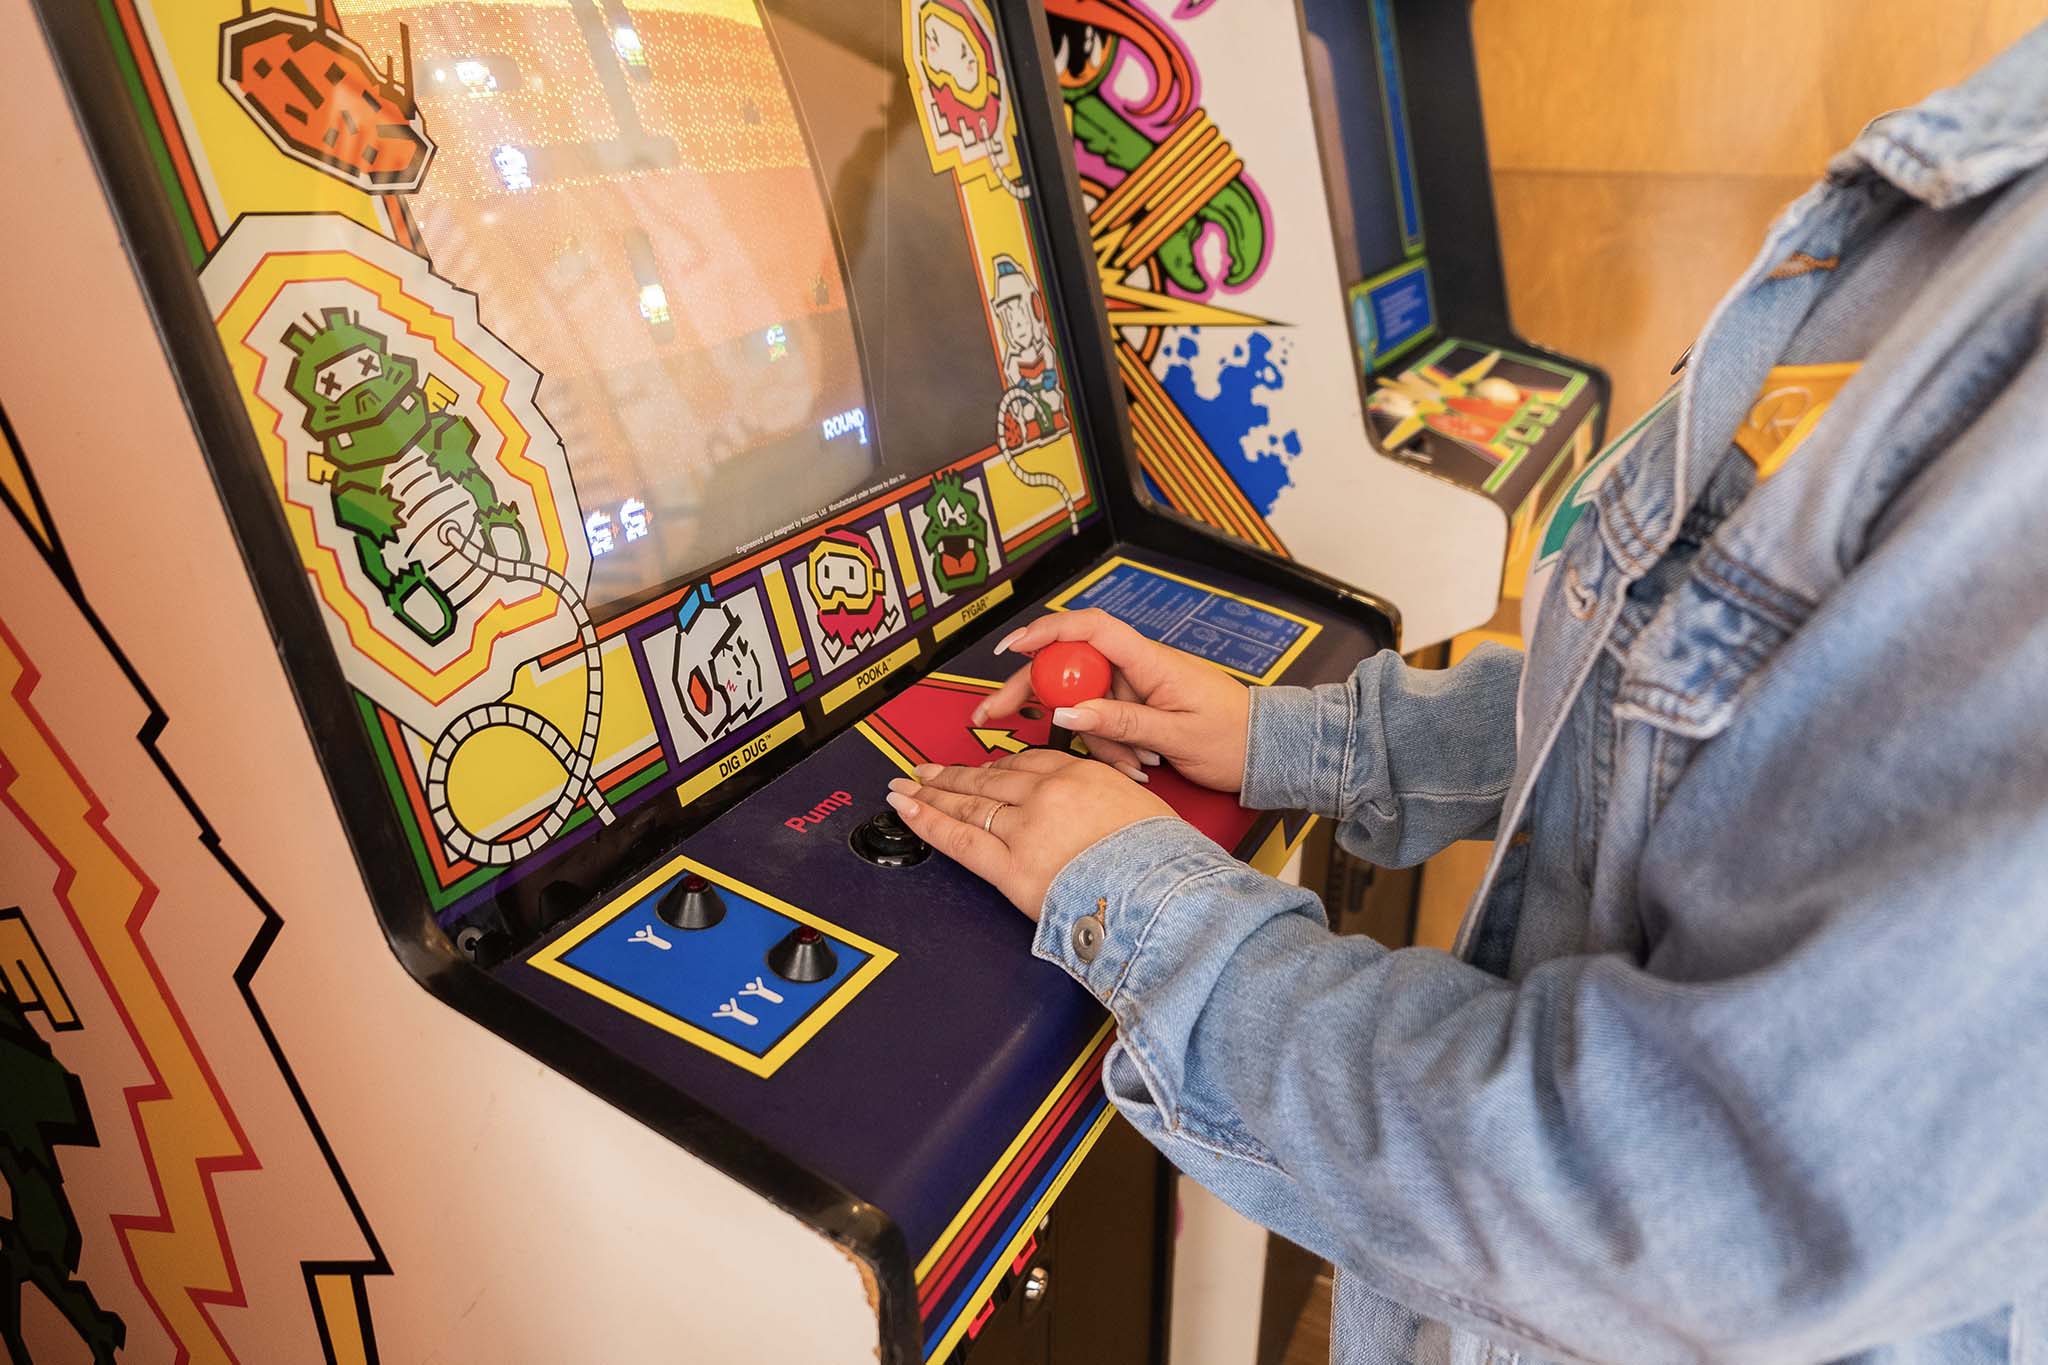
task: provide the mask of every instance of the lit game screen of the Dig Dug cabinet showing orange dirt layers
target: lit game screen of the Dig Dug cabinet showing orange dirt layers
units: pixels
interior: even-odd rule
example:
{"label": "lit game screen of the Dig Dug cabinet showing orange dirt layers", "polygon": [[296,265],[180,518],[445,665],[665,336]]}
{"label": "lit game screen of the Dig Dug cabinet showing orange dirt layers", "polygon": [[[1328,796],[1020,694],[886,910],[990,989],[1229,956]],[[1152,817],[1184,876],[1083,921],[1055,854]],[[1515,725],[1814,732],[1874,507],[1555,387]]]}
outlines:
{"label": "lit game screen of the Dig Dug cabinet showing orange dirt layers", "polygon": [[408,209],[543,375],[600,614],[987,444],[983,303],[928,268],[969,248],[891,6],[340,8],[410,51],[436,151]]}

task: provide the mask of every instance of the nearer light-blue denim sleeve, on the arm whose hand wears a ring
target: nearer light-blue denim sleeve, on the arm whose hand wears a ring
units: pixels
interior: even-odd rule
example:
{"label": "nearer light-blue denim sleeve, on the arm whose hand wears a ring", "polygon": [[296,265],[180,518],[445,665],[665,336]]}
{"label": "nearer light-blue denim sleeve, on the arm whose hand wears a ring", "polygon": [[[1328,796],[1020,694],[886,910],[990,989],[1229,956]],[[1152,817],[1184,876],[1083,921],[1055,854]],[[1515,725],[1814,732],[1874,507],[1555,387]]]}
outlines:
{"label": "nearer light-blue denim sleeve, on the arm whose hand wears a ring", "polygon": [[1896,491],[1675,780],[1651,952],[1509,982],[1333,937],[1171,819],[1087,849],[1036,952],[1114,1013],[1116,1105],[1374,1291],[1546,1359],[1839,1359],[2013,1302],[2048,1265],[2044,401],[2048,360]]}

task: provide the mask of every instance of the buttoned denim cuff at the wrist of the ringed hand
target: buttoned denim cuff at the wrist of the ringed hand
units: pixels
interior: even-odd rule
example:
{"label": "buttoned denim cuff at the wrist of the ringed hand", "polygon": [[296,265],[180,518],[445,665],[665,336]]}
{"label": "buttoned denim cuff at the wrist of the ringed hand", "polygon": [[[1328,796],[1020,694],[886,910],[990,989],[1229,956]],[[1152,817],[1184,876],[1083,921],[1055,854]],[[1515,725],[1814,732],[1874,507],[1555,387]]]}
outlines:
{"label": "buttoned denim cuff at the wrist of the ringed hand", "polygon": [[1069,862],[1038,907],[1032,954],[1053,962],[1114,1009],[1147,931],[1178,886],[1239,868],[1212,839],[1155,814],[1098,839]]}

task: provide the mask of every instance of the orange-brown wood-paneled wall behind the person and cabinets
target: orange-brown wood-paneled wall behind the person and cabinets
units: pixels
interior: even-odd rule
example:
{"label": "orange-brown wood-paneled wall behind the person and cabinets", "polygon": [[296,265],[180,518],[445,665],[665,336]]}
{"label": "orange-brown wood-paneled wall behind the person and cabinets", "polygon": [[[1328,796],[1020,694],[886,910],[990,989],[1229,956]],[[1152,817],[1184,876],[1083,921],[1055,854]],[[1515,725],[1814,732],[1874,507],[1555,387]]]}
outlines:
{"label": "orange-brown wood-paneled wall behind the person and cabinets", "polygon": [[[1624,430],[1858,129],[2038,23],[2048,0],[1475,0],[1516,327],[1606,366]],[[1417,941],[1450,945],[1487,851],[1430,862]]]}

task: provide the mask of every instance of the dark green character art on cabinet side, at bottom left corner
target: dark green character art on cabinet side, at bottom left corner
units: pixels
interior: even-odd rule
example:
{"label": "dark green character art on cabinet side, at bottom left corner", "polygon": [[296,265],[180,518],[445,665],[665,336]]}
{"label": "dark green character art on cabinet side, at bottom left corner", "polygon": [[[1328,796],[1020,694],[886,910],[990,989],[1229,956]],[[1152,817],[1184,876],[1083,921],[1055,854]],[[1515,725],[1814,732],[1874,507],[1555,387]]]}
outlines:
{"label": "dark green character art on cabinet side, at bottom left corner", "polygon": [[104,1312],[78,1279],[78,1216],[63,1197],[59,1144],[98,1146],[84,1087],[37,1036],[20,1003],[0,988],[0,1181],[6,1183],[0,1340],[12,1365],[33,1359],[20,1326],[20,1291],[27,1285],[35,1285],[63,1314],[78,1340],[92,1351],[94,1365],[113,1361],[127,1340],[127,1324]]}

